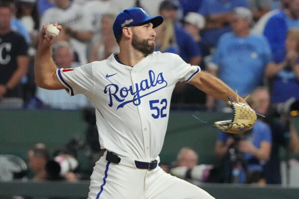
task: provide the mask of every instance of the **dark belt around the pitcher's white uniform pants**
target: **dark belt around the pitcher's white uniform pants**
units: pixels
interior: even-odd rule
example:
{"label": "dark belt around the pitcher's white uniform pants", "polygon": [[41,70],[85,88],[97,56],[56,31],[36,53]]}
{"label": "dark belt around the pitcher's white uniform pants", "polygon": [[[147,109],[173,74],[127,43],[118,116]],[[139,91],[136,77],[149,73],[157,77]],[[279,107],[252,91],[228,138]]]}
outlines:
{"label": "dark belt around the pitcher's white uniform pants", "polygon": [[[121,162],[121,158],[118,157],[118,155],[114,154],[113,152],[107,151],[107,155],[106,155],[106,160],[108,162],[112,162],[115,164],[118,164]],[[153,170],[157,167],[158,165],[158,161],[157,160],[153,160],[151,162],[140,162],[135,160],[135,165],[138,169],[148,169]]]}

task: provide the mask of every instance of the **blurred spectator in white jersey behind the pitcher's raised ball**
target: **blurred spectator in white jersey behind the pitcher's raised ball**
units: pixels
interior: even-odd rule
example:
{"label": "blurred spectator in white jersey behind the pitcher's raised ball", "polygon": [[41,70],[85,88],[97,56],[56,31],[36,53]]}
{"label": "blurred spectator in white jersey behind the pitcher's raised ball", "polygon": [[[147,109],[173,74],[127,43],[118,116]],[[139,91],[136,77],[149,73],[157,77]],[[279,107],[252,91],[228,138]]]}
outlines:
{"label": "blurred spectator in white jersey behind the pitcher's raised ball", "polygon": [[93,27],[85,21],[82,5],[71,0],[55,0],[55,6],[48,8],[40,19],[40,28],[46,23],[59,21],[70,32],[70,43],[79,55],[81,65],[87,63],[87,43],[93,36]]}

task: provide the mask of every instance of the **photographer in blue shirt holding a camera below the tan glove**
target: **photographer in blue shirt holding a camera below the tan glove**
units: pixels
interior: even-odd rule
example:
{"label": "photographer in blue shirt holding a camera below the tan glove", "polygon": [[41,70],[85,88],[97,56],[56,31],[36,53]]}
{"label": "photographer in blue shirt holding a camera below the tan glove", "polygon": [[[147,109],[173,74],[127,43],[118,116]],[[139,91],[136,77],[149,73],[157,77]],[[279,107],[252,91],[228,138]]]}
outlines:
{"label": "photographer in blue shirt holding a camera below the tan glove", "polygon": [[[248,101],[249,102],[249,101]],[[253,105],[252,103],[248,103]],[[270,126],[257,120],[253,128],[242,134],[218,133],[215,153],[225,162],[225,183],[244,183],[246,173],[263,171],[271,152]]]}

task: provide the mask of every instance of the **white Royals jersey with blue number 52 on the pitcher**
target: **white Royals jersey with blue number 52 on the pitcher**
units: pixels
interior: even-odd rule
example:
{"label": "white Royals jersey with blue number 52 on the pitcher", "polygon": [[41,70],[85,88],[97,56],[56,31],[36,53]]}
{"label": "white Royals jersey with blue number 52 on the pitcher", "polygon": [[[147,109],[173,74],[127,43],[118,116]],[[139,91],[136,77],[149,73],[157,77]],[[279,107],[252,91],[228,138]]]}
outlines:
{"label": "white Royals jersey with blue number 52 on the pitcher", "polygon": [[69,95],[81,93],[94,103],[102,148],[150,161],[163,145],[175,84],[191,80],[200,68],[172,53],[153,52],[133,67],[117,55],[58,69],[57,77]]}

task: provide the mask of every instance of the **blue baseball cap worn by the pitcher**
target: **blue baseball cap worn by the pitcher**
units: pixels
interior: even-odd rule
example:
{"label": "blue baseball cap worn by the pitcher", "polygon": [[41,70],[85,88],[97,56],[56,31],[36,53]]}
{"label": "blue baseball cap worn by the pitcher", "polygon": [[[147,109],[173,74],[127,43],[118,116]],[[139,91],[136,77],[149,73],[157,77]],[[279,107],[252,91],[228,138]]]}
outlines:
{"label": "blue baseball cap worn by the pitcher", "polygon": [[153,28],[157,27],[163,22],[162,16],[149,17],[147,12],[140,7],[133,7],[125,9],[119,13],[113,23],[113,33],[117,37],[119,33],[123,31],[124,27],[130,27],[132,25],[139,25],[146,22],[150,22]]}

